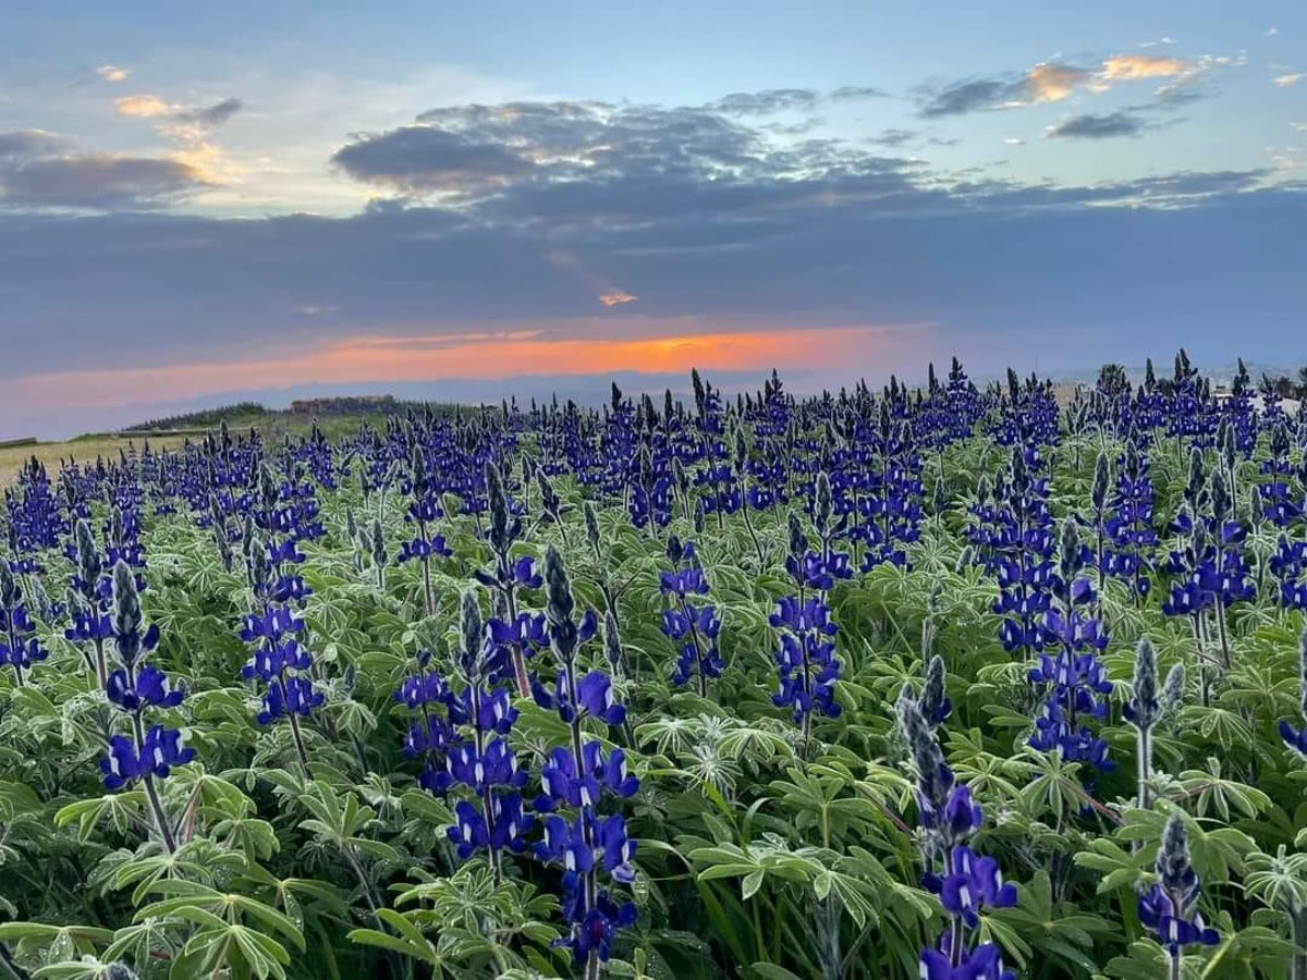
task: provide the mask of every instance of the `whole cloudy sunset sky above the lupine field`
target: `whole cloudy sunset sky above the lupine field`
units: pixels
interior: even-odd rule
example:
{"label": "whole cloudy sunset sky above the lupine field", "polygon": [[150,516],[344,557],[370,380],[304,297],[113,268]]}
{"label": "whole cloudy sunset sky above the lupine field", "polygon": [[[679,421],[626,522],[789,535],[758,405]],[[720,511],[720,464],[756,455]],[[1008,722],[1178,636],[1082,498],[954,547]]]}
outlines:
{"label": "whole cloudy sunset sky above the lupine field", "polygon": [[0,439],[1307,363],[1307,5],[13,5]]}

